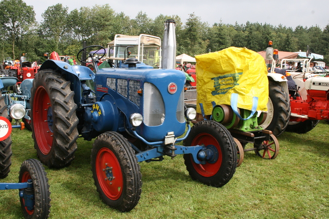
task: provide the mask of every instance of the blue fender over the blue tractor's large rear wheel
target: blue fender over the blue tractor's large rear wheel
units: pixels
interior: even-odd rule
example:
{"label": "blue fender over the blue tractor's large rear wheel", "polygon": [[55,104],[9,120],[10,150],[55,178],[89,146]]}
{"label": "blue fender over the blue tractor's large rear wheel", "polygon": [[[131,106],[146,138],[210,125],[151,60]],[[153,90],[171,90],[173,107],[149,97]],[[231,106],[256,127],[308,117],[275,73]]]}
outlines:
{"label": "blue fender over the blue tractor's large rear wheel", "polygon": [[[75,92],[74,101],[76,104],[80,104],[81,97],[81,81],[93,80],[95,73],[85,66],[71,66],[66,62],[47,59],[40,70],[52,69],[55,71],[61,71],[66,75],[67,81],[71,82],[71,89]],[[93,88],[92,88],[93,89]]]}

